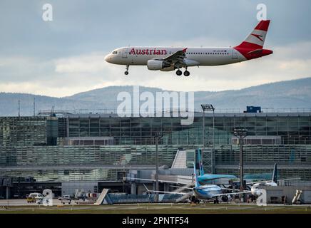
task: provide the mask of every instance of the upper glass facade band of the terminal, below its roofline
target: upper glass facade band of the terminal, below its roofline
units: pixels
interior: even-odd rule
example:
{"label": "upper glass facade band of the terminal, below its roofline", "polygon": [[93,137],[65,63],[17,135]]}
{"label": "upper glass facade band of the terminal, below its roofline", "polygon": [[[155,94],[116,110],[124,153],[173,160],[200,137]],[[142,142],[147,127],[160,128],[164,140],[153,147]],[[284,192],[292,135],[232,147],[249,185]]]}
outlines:
{"label": "upper glass facade band of the terminal, below its roofline", "polygon": [[[68,118],[68,137],[113,137],[116,145],[150,145],[155,133],[162,132],[162,144],[200,145],[203,142],[203,126],[202,117],[198,115],[195,115],[192,125],[180,125],[180,118],[72,115]],[[215,114],[214,132],[213,117],[207,115],[205,118],[205,141],[210,144],[213,143],[214,133],[215,145],[230,145],[235,128],[247,129],[249,136],[280,138],[282,145],[311,144],[310,114],[306,113]]]}

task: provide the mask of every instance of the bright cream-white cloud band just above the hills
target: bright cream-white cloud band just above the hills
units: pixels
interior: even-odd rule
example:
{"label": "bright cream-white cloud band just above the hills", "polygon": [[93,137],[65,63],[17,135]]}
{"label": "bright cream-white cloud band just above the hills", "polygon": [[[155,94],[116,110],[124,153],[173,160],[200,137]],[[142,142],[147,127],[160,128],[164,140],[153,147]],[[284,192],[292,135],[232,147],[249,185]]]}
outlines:
{"label": "bright cream-white cloud band just above the hills", "polygon": [[[188,46],[213,43],[204,38],[185,41]],[[226,42],[226,41],[225,41]],[[219,43],[225,43],[218,41]],[[174,46],[179,46],[176,42]],[[267,47],[269,48],[269,47]],[[311,42],[272,48],[270,56],[228,66],[189,68],[190,77],[175,72],[148,71],[146,66],[125,66],[103,61],[101,52],[44,60],[0,56],[0,91],[66,96],[105,86],[150,86],[166,90],[231,90],[262,83],[305,78],[311,72]]]}

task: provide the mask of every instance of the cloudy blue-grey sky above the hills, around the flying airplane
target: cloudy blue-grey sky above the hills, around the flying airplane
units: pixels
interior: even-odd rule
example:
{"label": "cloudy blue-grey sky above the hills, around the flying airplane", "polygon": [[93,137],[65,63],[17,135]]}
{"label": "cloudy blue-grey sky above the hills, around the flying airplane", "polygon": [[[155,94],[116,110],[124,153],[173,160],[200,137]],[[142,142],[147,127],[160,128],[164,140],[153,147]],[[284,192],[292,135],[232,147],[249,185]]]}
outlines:
{"label": "cloudy blue-grey sky above the hills, around the flying airplane", "polygon": [[[53,6],[44,21],[42,6]],[[114,66],[121,46],[235,46],[253,30],[258,4],[271,19],[264,58],[190,68],[190,77]],[[311,1],[0,1],[0,92],[65,96],[104,86],[230,90],[311,76]]]}

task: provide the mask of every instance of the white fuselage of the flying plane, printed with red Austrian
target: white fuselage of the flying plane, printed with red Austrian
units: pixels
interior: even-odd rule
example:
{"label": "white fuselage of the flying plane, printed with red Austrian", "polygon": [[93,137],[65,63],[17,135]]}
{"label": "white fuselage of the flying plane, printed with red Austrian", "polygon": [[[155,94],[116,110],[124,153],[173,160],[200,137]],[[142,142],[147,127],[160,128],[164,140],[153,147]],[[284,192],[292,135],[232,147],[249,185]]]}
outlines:
{"label": "white fuselage of the flying plane, printed with red Austrian", "polygon": [[[125,47],[117,48],[106,56],[108,63],[120,65],[146,66],[151,59],[161,59],[183,48],[169,47]],[[234,48],[187,48],[185,62],[189,66],[218,66],[238,63],[247,59]]]}

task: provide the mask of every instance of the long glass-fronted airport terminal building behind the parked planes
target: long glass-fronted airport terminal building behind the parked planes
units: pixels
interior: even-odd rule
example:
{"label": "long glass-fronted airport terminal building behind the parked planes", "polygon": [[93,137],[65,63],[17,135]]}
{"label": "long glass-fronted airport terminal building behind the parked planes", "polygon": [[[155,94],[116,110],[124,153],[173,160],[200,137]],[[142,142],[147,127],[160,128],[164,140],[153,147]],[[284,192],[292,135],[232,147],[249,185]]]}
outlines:
{"label": "long glass-fronted airport terminal building behind the parked planes", "polygon": [[0,197],[24,197],[49,188],[55,195],[74,189],[132,192],[123,177],[133,170],[172,167],[185,151],[186,168],[203,148],[205,172],[239,176],[235,128],[245,128],[245,175],[271,173],[311,180],[311,113],[203,113],[191,125],[182,118],[124,117],[114,113],[0,117]]}

